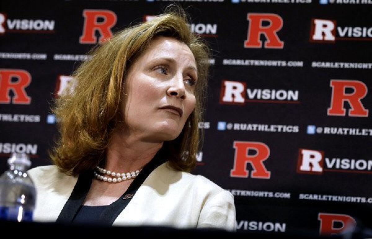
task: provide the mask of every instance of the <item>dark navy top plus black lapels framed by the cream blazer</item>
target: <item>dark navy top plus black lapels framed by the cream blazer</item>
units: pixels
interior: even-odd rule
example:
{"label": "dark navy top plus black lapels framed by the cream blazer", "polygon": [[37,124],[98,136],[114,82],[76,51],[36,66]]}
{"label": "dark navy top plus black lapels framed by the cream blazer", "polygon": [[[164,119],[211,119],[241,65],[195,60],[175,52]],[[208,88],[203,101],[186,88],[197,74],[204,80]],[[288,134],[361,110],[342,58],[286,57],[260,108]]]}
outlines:
{"label": "dark navy top plus black lapels framed by the cream blazer", "polygon": [[[57,223],[86,223],[100,224],[101,226],[112,226],[116,217],[124,210],[126,205],[137,192],[145,179],[154,171],[155,168],[166,162],[164,157],[160,156],[160,151],[154,158],[144,166],[142,171],[134,178],[133,182],[126,192],[118,200],[107,206],[82,206],[84,199],[89,191],[94,171],[80,173],[76,185],[65,203]],[[88,221],[89,220],[89,221]]]}

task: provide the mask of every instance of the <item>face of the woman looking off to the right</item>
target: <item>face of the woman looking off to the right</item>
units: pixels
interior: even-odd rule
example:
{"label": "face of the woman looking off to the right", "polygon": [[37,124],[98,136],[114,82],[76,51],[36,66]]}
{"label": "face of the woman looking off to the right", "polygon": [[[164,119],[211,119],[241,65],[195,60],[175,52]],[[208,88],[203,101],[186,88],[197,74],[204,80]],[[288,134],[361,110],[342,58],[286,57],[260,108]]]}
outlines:
{"label": "face of the woman looking off to the right", "polygon": [[131,66],[124,107],[130,134],[148,141],[173,140],[195,108],[197,70],[189,47],[159,36]]}

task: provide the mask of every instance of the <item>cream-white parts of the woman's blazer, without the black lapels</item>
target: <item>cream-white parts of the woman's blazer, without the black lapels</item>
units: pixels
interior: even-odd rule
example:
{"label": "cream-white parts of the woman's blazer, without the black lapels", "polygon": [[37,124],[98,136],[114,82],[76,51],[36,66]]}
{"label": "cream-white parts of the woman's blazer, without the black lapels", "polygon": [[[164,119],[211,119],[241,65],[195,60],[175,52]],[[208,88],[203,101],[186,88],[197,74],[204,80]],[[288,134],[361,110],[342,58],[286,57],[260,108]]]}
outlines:
{"label": "cream-white parts of the woman's blazer, without the black lapels", "polygon": [[[37,222],[55,222],[78,177],[57,166],[30,169],[36,187]],[[145,179],[113,226],[214,227],[236,230],[232,194],[201,175],[179,172],[163,163]]]}

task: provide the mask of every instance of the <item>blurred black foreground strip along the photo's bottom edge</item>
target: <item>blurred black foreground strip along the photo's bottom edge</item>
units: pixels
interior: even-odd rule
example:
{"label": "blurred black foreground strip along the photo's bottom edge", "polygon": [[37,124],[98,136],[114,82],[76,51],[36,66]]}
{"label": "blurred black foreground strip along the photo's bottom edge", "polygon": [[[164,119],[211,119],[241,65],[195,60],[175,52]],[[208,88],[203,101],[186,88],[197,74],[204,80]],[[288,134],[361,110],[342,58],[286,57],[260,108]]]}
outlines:
{"label": "blurred black foreground strip along the photo's bottom edge", "polygon": [[76,225],[76,224],[58,224],[58,223],[36,223],[36,222],[11,222],[0,220],[0,230],[8,232],[10,236],[17,236],[18,233],[24,235],[28,233],[28,237],[33,236],[43,238],[48,236],[52,238],[86,238],[92,236],[97,238],[100,236],[125,236],[125,238],[138,238],[141,236],[151,236],[157,238],[158,236],[170,236],[174,238],[244,238],[244,239],[261,239],[261,238],[275,238],[275,239],[361,239],[372,238],[371,231],[364,230],[363,232],[353,232],[344,235],[333,236],[319,236],[316,232],[298,232],[296,234],[267,234],[267,233],[251,233],[251,232],[227,232],[219,229],[176,229],[173,227],[164,226],[131,226],[131,227],[104,227],[99,225]]}

